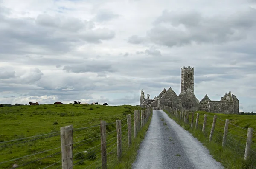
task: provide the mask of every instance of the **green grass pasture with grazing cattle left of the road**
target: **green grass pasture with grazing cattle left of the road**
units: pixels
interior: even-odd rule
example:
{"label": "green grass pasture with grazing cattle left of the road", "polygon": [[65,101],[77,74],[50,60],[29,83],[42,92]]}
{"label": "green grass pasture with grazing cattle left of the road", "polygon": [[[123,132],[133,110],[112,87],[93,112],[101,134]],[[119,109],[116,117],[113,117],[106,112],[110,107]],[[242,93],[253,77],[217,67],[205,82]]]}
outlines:
{"label": "green grass pasture with grazing cattle left of the road", "polygon": [[[123,120],[122,139],[125,145],[125,118],[127,114],[131,114],[133,122],[134,110],[141,110],[141,107],[73,104],[0,107],[0,168],[10,168],[13,164],[24,169],[43,169],[52,164],[54,165],[49,169],[61,168],[60,127],[71,124],[74,128],[74,168],[85,168],[93,163],[100,165],[100,120],[107,123],[108,148],[114,148],[116,143],[116,120]],[[94,125],[96,126],[90,127]],[[26,155],[31,156],[20,158]],[[9,161],[15,158],[20,159]],[[2,163],[4,161],[9,162]],[[108,161],[109,165],[111,163],[114,164],[116,161]]]}

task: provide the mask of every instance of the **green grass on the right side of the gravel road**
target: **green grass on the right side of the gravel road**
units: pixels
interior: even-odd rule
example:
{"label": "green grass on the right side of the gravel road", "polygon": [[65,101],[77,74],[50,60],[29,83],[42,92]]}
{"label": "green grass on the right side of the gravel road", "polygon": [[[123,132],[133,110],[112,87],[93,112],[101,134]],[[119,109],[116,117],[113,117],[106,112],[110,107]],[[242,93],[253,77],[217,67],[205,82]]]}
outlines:
{"label": "green grass on the right side of the gravel road", "polygon": [[[166,113],[168,112],[165,110]],[[195,129],[196,114],[199,113],[198,129]],[[207,124],[205,132],[202,132],[204,114],[207,115]],[[189,124],[184,123],[184,119],[175,117],[173,114],[168,115],[174,119],[183,128],[188,130],[209,149],[213,157],[221,162],[227,169],[256,169],[256,116],[254,115],[235,115],[208,113],[198,111],[194,113],[193,128],[191,128],[192,112],[189,112]],[[179,113],[180,115],[180,113]],[[213,116],[217,115],[215,131],[212,141],[209,142],[209,134],[212,127]],[[226,144],[222,147],[222,138],[225,126],[225,120],[229,119],[228,133]],[[244,161],[244,149],[246,146],[247,129],[253,128],[253,140],[251,144],[250,158]]]}

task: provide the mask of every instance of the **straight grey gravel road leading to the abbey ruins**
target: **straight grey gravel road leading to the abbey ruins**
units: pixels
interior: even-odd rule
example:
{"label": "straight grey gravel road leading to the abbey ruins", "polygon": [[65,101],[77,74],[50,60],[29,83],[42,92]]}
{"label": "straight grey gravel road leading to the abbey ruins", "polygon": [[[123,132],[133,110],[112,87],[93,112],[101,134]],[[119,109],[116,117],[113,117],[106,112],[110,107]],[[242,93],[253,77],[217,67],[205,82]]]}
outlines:
{"label": "straight grey gravel road leading to the abbey ruins", "polygon": [[224,169],[192,134],[162,110],[153,110],[133,169]]}

